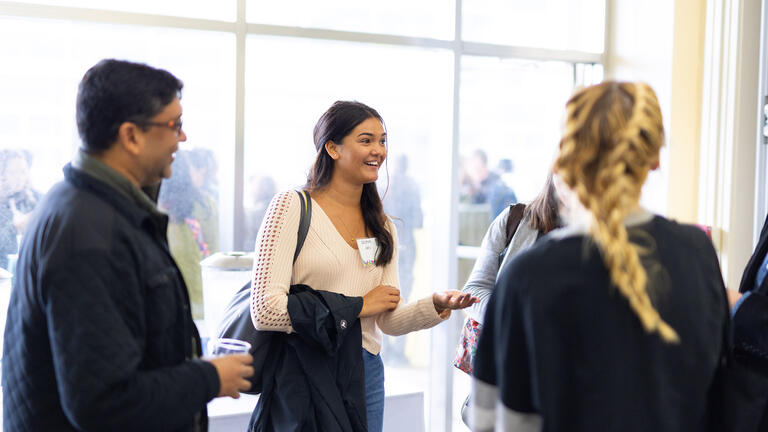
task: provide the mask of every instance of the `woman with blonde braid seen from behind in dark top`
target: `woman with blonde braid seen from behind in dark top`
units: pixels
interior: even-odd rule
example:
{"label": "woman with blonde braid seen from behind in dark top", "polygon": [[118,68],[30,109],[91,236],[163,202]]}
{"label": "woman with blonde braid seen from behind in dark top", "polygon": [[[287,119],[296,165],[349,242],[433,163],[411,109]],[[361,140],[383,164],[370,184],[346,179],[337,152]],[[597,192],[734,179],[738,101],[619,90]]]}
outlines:
{"label": "woman with blonde braid seen from behind in dark top", "polygon": [[728,309],[698,228],[639,205],[664,143],[646,84],[578,91],[554,171],[567,227],[507,264],[475,359],[475,431],[697,431]]}

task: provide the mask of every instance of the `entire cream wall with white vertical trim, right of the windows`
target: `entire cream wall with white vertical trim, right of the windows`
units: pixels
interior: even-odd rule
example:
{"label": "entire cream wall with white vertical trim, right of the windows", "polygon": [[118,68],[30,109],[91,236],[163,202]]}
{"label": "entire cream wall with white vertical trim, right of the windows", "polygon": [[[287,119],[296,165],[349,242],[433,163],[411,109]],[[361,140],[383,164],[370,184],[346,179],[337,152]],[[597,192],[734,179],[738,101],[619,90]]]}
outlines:
{"label": "entire cream wall with white vertical trim, right of the windows", "polygon": [[642,204],[714,228],[726,284],[753,245],[761,0],[608,0],[607,77],[654,87],[667,129]]}

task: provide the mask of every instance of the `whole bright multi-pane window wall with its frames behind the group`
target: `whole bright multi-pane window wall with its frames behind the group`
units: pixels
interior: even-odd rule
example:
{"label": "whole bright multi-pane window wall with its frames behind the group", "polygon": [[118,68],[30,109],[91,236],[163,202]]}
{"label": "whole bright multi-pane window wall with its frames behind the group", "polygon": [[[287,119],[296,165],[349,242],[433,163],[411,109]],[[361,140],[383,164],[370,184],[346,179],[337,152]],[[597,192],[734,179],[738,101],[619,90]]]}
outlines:
{"label": "whole bright multi-pane window wall with its frames behind the group", "polygon": [[[456,288],[436,282],[446,274],[462,286],[493,216],[538,193],[574,87],[602,80],[605,1],[458,6],[459,26],[457,3],[441,0],[0,1],[0,267],[14,270],[25,218],[79,146],[78,82],[100,59],[119,58],[184,82],[188,140],[159,206],[203,336],[217,325],[205,305],[227,299],[202,301],[200,260],[253,250],[272,196],[304,184],[312,129],[336,100],[384,117],[378,187],[399,232],[402,294],[414,301]],[[458,244],[449,244],[456,226]],[[458,259],[442,260],[454,248]],[[385,337],[387,395],[423,393],[424,406],[412,408],[428,431],[468,430],[458,410],[469,381],[448,366],[463,319]],[[237,403],[224,411],[245,412],[247,424],[253,400]]]}

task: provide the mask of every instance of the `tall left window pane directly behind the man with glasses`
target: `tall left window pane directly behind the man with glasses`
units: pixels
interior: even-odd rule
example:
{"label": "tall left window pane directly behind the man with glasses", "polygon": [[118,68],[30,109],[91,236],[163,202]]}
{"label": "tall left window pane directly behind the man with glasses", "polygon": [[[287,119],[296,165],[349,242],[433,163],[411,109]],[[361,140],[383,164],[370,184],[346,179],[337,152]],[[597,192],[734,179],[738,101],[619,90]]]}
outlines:
{"label": "tall left window pane directly behind the man with glasses", "polygon": [[[203,236],[186,243],[179,240],[190,238],[183,229],[190,224],[173,220],[171,225],[179,229],[173,233],[169,230],[169,235],[177,261],[189,264],[182,270],[196,304],[195,316],[201,318],[197,258],[219,247],[231,247],[231,224],[217,221],[232,220],[233,180],[220,176],[217,172],[227,174],[229,170],[220,171],[217,166],[233,165],[234,35],[2,18],[0,40],[15,41],[0,45],[4,60],[0,68],[0,94],[4,98],[0,104],[0,149],[23,149],[31,157],[29,185],[39,193],[62,178],[62,166],[79,146],[75,96],[78,82],[90,66],[106,57],[133,60],[167,69],[184,81],[182,105],[188,140],[181,143],[179,163],[173,170],[175,176],[185,171],[182,168],[188,171],[185,184],[190,190],[180,193],[191,192],[191,176],[198,175],[200,193],[194,196],[201,208],[189,218],[197,221]],[[180,161],[188,165],[181,167]],[[196,171],[190,176],[192,170]],[[8,172],[6,169],[2,174]],[[221,212],[219,203],[223,204]],[[0,204],[10,205],[7,198]],[[2,223],[7,225],[8,221]]]}

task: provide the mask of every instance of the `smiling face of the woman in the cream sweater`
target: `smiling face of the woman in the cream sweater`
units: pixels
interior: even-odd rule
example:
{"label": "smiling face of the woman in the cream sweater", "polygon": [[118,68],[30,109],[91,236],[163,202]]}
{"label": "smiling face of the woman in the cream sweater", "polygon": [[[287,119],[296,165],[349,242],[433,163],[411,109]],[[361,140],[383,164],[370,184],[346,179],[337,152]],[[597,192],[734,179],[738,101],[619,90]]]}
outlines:
{"label": "smiling face of the woman in the cream sweater", "polygon": [[387,133],[379,119],[369,117],[340,143],[328,141],[325,149],[334,160],[334,176],[353,184],[373,183],[387,158]]}

